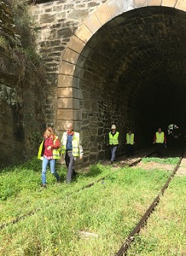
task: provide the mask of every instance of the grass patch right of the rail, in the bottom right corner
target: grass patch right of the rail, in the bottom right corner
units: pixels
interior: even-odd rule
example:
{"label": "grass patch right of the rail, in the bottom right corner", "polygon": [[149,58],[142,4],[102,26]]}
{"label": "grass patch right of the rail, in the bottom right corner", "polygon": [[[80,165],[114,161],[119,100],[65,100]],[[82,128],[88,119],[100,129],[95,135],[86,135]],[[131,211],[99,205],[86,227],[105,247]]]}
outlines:
{"label": "grass patch right of the rail, in the bottom right corner", "polygon": [[186,177],[175,177],[148,224],[136,236],[129,256],[186,255]]}

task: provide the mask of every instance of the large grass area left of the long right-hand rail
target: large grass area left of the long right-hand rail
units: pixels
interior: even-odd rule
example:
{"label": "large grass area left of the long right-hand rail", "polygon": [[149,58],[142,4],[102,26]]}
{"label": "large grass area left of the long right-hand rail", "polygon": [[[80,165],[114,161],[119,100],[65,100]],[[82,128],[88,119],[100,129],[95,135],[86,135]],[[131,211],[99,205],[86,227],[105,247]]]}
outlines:
{"label": "large grass area left of the long right-hand rail", "polygon": [[[66,168],[58,171],[64,178]],[[40,191],[41,161],[6,169],[0,175],[0,223],[38,211],[2,228],[0,255],[113,255],[167,178],[168,171],[93,165],[71,185],[56,184],[48,171],[48,188]]]}

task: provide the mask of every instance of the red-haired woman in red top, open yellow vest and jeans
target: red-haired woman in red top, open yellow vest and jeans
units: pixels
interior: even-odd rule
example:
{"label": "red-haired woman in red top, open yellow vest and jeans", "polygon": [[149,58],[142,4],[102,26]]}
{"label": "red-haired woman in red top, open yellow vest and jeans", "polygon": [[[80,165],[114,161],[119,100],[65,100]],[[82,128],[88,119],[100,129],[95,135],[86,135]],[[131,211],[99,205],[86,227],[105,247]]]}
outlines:
{"label": "red-haired woman in red top, open yellow vest and jeans", "polygon": [[56,171],[56,161],[60,159],[60,141],[57,136],[54,135],[54,131],[51,127],[48,127],[46,131],[44,131],[44,139],[41,142],[38,151],[38,159],[42,160],[42,187],[47,187],[46,182],[46,172],[47,172],[47,165],[50,164],[51,173],[57,179],[57,182],[60,181],[60,176],[57,174]]}

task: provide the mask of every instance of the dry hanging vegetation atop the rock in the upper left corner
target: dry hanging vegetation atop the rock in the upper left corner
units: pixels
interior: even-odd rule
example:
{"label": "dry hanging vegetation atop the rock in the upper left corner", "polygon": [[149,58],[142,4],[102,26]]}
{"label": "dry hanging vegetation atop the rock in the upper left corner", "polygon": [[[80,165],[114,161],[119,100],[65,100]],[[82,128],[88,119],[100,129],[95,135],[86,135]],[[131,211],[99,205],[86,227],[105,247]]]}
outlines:
{"label": "dry hanging vegetation atop the rock in the upper left corner", "polygon": [[0,16],[0,51],[11,59],[11,62],[26,67],[25,71],[40,65],[41,57],[35,50],[37,31],[29,13],[28,1],[0,2]]}

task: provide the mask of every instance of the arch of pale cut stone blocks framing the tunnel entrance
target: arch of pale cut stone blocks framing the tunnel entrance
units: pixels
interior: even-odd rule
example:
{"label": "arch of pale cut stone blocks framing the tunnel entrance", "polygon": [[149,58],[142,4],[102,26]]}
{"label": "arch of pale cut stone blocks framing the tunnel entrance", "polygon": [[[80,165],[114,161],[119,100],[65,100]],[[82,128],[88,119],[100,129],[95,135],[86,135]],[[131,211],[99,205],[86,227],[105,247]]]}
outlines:
{"label": "arch of pale cut stone blocks framing the tunnel entrance", "polygon": [[[103,25],[122,15],[122,13],[148,6],[162,6],[186,11],[184,0],[109,0],[87,17],[75,32],[75,35],[70,38],[70,42],[61,58],[59,68],[56,120],[58,131],[64,131],[66,121],[74,121],[75,129],[77,131],[81,130],[80,104],[82,96],[80,79],[84,72],[83,63],[89,56],[90,38],[93,38],[93,35]],[[102,150],[101,147],[100,149]],[[96,158],[97,156],[95,156]]]}

